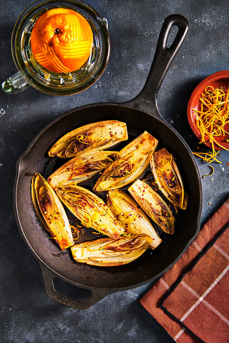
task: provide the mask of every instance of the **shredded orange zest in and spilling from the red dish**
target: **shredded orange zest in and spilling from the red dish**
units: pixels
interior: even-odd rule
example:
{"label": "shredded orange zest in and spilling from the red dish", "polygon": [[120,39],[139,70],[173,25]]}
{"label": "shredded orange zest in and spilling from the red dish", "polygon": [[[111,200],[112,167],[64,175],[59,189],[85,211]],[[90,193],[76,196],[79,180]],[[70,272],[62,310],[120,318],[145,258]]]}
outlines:
{"label": "shredded orange zest in and spilling from the red dish", "polygon": [[[222,89],[222,86],[221,88],[216,89],[212,86],[208,86],[205,88],[205,93],[201,93],[199,101],[201,103],[201,108],[200,110],[193,109],[193,113],[196,115],[196,127],[201,134],[200,143],[206,143],[205,139],[208,138],[211,143],[212,151],[207,153],[193,152],[193,154],[202,158],[207,163],[213,161],[221,163],[216,158],[219,151],[215,151],[214,143],[222,149],[228,150],[220,145],[215,137],[224,136],[225,133],[229,134],[229,132],[224,129],[225,125],[229,123],[229,88],[228,90],[224,90]],[[204,178],[206,176],[211,176],[214,173],[214,168],[212,166],[211,168],[212,173],[210,175],[204,175]]]}

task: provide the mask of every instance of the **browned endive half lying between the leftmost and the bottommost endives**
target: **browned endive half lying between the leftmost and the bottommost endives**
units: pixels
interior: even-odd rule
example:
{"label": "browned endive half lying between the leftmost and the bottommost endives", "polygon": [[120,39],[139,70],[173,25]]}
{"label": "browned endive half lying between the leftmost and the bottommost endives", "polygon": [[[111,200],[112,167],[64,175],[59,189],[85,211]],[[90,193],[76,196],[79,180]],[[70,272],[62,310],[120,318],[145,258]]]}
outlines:
{"label": "browned endive half lying between the leftmost and the bottommost endives", "polygon": [[118,238],[124,228],[102,199],[75,181],[68,181],[55,189],[58,197],[82,224],[92,227],[109,237]]}

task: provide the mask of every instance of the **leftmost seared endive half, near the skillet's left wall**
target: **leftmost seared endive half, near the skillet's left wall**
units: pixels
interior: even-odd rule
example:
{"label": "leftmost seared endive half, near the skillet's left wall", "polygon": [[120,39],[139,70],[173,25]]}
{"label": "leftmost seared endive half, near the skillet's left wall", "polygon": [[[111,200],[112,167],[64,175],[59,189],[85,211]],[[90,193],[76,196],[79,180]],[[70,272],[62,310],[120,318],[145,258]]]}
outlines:
{"label": "leftmost seared endive half, near the skillet's left wall", "polygon": [[38,173],[32,178],[31,196],[36,214],[61,250],[72,246],[74,240],[63,205],[48,182]]}

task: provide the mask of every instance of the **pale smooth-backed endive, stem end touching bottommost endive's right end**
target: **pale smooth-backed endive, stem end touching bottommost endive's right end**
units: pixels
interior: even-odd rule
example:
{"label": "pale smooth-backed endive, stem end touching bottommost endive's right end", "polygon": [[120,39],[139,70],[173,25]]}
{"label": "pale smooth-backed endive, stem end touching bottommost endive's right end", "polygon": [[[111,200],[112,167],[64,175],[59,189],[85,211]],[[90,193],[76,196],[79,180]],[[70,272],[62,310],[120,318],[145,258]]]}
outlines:
{"label": "pale smooth-backed endive, stem end touching bottommost endive's right end", "polygon": [[127,233],[131,235],[146,234],[152,238],[150,248],[156,248],[161,242],[147,215],[137,202],[125,191],[113,189],[107,192],[107,206],[119,220]]}

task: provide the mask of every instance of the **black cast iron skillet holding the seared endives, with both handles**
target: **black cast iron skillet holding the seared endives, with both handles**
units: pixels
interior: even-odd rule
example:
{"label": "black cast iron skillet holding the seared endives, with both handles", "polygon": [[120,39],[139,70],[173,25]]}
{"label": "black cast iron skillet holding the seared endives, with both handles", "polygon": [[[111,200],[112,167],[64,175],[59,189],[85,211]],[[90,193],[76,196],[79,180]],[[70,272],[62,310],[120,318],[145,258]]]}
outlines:
{"label": "black cast iron skillet holding the seared endives, with both handles", "polygon": [[[178,32],[172,45],[166,47],[173,25]],[[40,263],[47,294],[59,303],[76,309],[86,309],[106,295],[144,285],[165,273],[184,253],[197,236],[202,208],[202,186],[192,152],[182,137],[166,123],[157,109],[157,93],[164,76],[188,31],[187,20],[178,14],[168,16],[159,35],[153,63],[143,90],[125,103],[100,103],[70,110],[39,132],[17,162],[14,184],[14,211],[20,233]],[[127,123],[129,133],[140,135],[144,130],[156,137],[177,158],[178,168],[188,193],[186,210],[179,211],[175,233],[155,250],[146,251],[137,260],[120,267],[95,267],[73,262],[70,253],[58,256],[60,250],[36,218],[30,195],[31,176],[43,175],[47,150],[68,131],[90,122],[116,119]],[[84,301],[63,296],[54,289],[53,279],[60,279],[90,289]]]}

